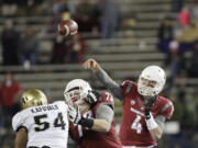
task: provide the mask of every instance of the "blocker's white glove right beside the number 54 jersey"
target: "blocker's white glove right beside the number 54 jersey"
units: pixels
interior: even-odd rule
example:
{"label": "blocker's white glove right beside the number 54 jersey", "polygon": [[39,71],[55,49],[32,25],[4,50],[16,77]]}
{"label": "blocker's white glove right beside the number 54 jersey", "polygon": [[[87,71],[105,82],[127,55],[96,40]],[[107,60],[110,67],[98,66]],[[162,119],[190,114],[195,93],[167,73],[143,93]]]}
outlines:
{"label": "blocker's white glove right beside the number 54 jersey", "polygon": [[72,105],[68,106],[68,117],[69,121],[74,124],[78,124],[79,121],[81,119],[81,114],[79,112],[79,107],[77,105],[77,109],[74,109]]}

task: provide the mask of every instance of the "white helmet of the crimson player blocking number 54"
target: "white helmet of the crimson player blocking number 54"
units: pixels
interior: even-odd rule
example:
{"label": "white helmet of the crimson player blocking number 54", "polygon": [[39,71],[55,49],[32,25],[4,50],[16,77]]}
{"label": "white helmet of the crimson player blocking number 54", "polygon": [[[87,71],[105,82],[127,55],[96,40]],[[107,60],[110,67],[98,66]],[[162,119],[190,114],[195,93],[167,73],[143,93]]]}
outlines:
{"label": "white helmet of the crimson player blocking number 54", "polygon": [[74,79],[67,83],[64,96],[68,105],[74,105],[74,99],[80,101],[81,99],[85,99],[91,90],[92,89],[87,81],[82,79]]}

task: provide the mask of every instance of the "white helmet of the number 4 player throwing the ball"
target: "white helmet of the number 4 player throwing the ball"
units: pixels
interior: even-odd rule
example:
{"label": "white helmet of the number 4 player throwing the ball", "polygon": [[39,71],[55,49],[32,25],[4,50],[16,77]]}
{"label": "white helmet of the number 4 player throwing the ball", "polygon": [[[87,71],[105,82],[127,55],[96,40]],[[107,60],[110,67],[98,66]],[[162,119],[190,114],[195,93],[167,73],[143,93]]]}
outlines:
{"label": "white helmet of the number 4 player throwing the ball", "polygon": [[[154,87],[145,86],[144,80],[154,82]],[[165,82],[165,71],[158,66],[148,66],[143,69],[142,73],[139,77],[138,91],[142,95],[155,96],[163,90]]]}

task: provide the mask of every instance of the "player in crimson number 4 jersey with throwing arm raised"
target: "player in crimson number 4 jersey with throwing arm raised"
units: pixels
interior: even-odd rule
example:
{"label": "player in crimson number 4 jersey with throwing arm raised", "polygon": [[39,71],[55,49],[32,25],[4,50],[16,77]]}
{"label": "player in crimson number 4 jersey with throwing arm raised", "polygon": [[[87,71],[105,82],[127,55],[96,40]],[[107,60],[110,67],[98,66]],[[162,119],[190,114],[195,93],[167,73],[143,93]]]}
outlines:
{"label": "player in crimson number 4 jersey with throwing arm raised", "polygon": [[95,59],[82,64],[91,69],[103,86],[122,101],[120,139],[124,148],[154,148],[162,137],[166,118],[170,118],[173,103],[160,96],[166,82],[165,71],[158,66],[148,66],[141,72],[139,81],[114,82]]}

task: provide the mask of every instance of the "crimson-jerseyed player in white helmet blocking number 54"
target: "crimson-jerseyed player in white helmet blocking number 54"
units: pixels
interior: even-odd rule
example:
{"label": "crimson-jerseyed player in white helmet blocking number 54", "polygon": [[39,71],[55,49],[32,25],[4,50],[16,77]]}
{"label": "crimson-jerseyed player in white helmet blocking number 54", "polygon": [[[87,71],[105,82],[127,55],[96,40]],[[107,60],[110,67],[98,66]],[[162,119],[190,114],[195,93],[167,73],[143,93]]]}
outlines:
{"label": "crimson-jerseyed player in white helmet blocking number 54", "polygon": [[79,148],[122,148],[114,126],[114,100],[108,92],[99,93],[82,79],[66,86],[69,134]]}

